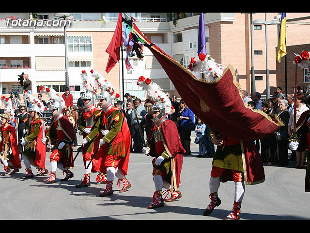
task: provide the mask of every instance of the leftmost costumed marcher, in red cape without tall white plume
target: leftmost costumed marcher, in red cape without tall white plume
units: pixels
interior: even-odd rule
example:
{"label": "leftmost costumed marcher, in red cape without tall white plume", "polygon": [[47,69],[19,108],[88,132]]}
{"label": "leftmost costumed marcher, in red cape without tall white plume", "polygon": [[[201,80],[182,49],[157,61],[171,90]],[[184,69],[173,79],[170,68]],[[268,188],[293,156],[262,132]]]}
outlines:
{"label": "leftmost costumed marcher, in red cape without tall white plume", "polygon": [[9,124],[11,117],[8,113],[1,114],[0,116],[1,116],[0,160],[1,163],[4,165],[4,171],[5,171],[5,173],[1,175],[8,176],[18,172],[19,168],[21,168],[21,164],[19,161],[19,151],[17,145],[16,132],[14,127]]}

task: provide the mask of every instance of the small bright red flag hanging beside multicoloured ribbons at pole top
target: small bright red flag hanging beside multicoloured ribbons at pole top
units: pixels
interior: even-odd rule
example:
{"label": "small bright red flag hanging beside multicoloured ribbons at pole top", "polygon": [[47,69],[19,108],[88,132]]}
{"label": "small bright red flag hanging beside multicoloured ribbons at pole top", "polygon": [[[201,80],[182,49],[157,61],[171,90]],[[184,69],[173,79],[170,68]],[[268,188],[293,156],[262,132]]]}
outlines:
{"label": "small bright red flag hanging beside multicoloured ribbons at pole top", "polygon": [[109,71],[115,66],[115,64],[120,60],[120,48],[123,44],[122,36],[122,13],[119,14],[116,29],[112,36],[111,42],[106,50],[109,53],[108,64],[106,67],[106,72]]}

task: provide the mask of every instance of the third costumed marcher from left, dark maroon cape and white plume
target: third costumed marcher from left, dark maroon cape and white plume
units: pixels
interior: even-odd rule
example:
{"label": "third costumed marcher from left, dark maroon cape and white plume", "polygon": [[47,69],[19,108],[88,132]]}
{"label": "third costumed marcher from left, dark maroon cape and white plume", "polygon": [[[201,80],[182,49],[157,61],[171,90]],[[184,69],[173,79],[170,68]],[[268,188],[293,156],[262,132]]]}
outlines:
{"label": "third costumed marcher from left, dark maroon cape and white plume", "polygon": [[52,100],[52,104],[48,105],[48,110],[52,112],[52,120],[50,127],[47,130],[46,138],[50,141],[51,138],[56,139],[53,147],[53,152],[49,156],[51,169],[49,178],[42,180],[45,183],[56,182],[56,170],[57,167],[65,173],[66,176],[61,181],[67,181],[72,178],[73,172],[69,168],[74,168],[74,165],[70,166],[73,161],[73,140],[75,137],[74,128],[67,116],[62,114],[62,110],[65,108],[65,101],[56,93],[52,87],[40,86],[39,88],[42,94],[47,94],[49,99]]}

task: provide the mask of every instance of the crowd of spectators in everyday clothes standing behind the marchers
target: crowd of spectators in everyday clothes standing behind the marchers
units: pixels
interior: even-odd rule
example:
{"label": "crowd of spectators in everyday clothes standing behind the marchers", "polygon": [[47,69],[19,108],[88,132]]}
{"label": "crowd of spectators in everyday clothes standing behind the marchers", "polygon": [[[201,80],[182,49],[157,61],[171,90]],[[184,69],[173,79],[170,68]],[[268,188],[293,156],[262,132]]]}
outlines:
{"label": "crowd of spectators in everyday clothes standing behind the marchers", "polygon": [[[295,168],[305,168],[306,158],[308,153],[308,144],[301,143],[298,149],[290,150],[288,148],[288,142],[290,135],[294,131],[294,105],[296,106],[296,121],[301,114],[310,109],[309,97],[303,92],[302,87],[297,88],[296,101],[294,101],[294,94],[289,94],[286,97],[282,94],[280,86],[277,87],[277,91],[268,100],[261,100],[262,96],[259,92],[252,93],[248,96],[246,90],[242,90],[242,98],[245,104],[252,109],[260,109],[265,114],[278,116],[284,126],[280,127],[278,132],[269,135],[268,137],[260,140],[256,140],[255,144],[260,151],[262,160],[266,164],[272,164],[276,166],[288,166],[290,161],[296,162]],[[196,157],[213,157],[215,154],[215,146],[209,139],[210,129],[208,125],[202,122],[201,119],[196,117],[194,113],[187,107],[186,102],[182,99],[177,101],[177,97],[167,92],[166,95],[171,100],[171,104],[175,111],[169,115],[179,133],[181,143],[186,150],[184,155],[191,155],[191,143],[199,145],[198,155]],[[62,95],[65,101],[66,107],[63,114],[68,116],[70,122],[74,126],[76,137],[74,146],[78,146],[77,133],[79,125],[79,113],[81,111],[83,101],[78,100],[77,105],[73,104],[73,97],[69,88],[65,88],[65,92]],[[42,100],[42,94],[38,94],[38,99]],[[125,103],[117,101],[114,105],[122,109],[126,122],[130,129],[131,134],[131,153],[142,153],[142,147],[145,139],[147,139],[149,132],[152,130],[152,115],[147,115],[148,108],[154,104],[152,100],[146,100],[143,104],[142,101],[136,96],[132,96],[129,93],[124,95]],[[51,104],[50,101],[42,100],[44,105]],[[23,132],[27,129],[27,121],[29,120],[29,114],[27,113],[27,104],[21,105],[16,110],[16,122],[13,125],[18,135],[18,142],[23,137]],[[41,116],[42,117],[42,116]],[[45,129],[48,130],[50,117],[43,117],[45,122]],[[138,119],[137,119],[138,118]],[[29,122],[29,121],[28,121]],[[191,140],[192,133],[194,132],[195,139]],[[301,140],[304,142],[307,140]],[[51,151],[52,145],[47,145],[47,151]],[[21,152],[22,146],[19,143],[19,151]]]}

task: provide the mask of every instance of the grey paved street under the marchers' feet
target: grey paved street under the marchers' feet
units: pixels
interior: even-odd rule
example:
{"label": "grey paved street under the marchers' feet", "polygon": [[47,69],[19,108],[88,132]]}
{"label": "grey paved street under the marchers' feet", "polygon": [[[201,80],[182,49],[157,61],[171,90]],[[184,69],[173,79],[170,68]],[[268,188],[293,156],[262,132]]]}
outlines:
{"label": "grey paved street under the marchers' feet", "polygon": [[[75,154],[78,147],[75,147]],[[0,219],[184,219],[217,220],[226,217],[233,207],[233,182],[221,183],[219,197],[222,200],[211,216],[202,216],[209,203],[209,176],[212,158],[196,158],[198,146],[192,143],[193,154],[184,157],[181,174],[182,198],[158,209],[148,209],[152,202],[152,157],[131,154],[127,179],[132,187],[119,193],[115,178],[114,195],[98,197],[105,185],[95,185],[92,174],[91,187],[76,188],[85,172],[82,155],[79,154],[73,169],[74,177],[61,182],[64,175],[57,170],[57,183],[45,184],[44,177],[22,180],[24,167],[11,177],[0,177]],[[196,151],[196,152],[195,152]],[[50,153],[47,153],[49,157]],[[50,162],[47,159],[47,169]],[[241,219],[283,220],[310,219],[310,193],[304,192],[305,169],[265,165],[266,181],[246,185],[242,202]],[[1,170],[0,173],[3,173]],[[34,169],[36,173],[36,169]]]}

